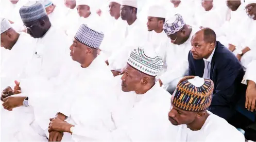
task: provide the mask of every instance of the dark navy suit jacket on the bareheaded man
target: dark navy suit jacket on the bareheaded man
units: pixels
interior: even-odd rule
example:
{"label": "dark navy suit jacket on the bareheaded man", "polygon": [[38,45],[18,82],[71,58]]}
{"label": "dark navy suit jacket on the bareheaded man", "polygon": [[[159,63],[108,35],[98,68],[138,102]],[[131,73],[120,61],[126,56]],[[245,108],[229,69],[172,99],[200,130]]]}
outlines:
{"label": "dark navy suit jacket on the bareheaded man", "polygon": [[[245,93],[241,87],[244,70],[234,54],[224,45],[216,42],[211,62],[210,79],[214,83],[214,92],[209,111],[228,120],[235,112],[235,103]],[[189,53],[189,75],[202,77],[203,59],[194,59]]]}

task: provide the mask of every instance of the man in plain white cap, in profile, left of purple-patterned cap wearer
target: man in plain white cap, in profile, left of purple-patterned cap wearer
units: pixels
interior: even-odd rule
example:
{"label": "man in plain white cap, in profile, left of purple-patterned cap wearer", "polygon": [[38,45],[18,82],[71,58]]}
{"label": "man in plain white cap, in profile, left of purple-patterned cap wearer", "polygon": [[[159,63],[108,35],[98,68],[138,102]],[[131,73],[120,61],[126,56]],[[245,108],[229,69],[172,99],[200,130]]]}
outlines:
{"label": "man in plain white cap, in profile, left of purple-patterned cap wearer", "polygon": [[169,41],[163,30],[166,10],[162,6],[153,5],[149,7],[147,14],[147,40],[153,45],[155,51],[161,43]]}

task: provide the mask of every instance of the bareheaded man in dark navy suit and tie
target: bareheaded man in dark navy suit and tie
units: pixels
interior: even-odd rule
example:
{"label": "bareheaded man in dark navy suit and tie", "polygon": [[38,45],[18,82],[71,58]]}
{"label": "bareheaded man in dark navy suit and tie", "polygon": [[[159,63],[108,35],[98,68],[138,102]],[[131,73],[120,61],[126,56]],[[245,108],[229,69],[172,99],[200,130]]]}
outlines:
{"label": "bareheaded man in dark navy suit and tie", "polygon": [[244,71],[228,48],[216,41],[210,28],[203,28],[192,37],[189,53],[189,75],[213,80],[214,92],[209,111],[229,120],[235,113],[235,103],[241,97]]}

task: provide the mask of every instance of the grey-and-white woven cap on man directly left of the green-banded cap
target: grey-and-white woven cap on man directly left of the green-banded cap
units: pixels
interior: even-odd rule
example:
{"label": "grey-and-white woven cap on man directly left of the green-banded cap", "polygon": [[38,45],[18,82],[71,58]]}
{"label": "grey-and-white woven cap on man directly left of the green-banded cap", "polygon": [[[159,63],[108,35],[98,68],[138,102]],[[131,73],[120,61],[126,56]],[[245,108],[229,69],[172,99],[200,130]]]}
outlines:
{"label": "grey-and-white woven cap on man directly left of the green-banded cap", "polygon": [[94,49],[99,49],[99,46],[104,38],[103,32],[92,30],[87,25],[82,24],[76,32],[75,39],[80,43]]}

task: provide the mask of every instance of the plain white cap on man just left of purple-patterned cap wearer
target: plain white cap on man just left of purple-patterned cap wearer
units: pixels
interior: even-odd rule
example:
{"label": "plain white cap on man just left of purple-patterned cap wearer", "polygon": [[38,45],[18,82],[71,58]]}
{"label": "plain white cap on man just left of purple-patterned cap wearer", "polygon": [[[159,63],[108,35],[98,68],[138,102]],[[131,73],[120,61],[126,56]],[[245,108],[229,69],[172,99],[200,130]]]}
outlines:
{"label": "plain white cap on man just left of purple-patterned cap wearer", "polygon": [[166,10],[162,6],[154,5],[149,7],[147,16],[165,18]]}

